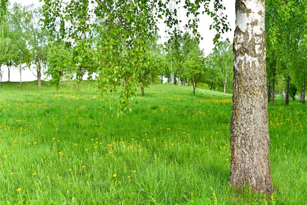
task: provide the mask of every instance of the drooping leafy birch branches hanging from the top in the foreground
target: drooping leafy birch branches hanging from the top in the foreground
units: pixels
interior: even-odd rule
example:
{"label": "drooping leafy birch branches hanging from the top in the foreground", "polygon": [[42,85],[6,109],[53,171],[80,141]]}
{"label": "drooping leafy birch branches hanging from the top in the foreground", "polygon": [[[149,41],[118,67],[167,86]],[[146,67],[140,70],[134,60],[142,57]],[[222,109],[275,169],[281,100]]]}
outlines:
{"label": "drooping leafy birch branches hanging from the top in the foreground", "polygon": [[[146,39],[151,40],[157,30],[156,22],[162,15],[166,16],[169,33],[172,38],[180,33],[178,30],[177,6],[167,0],[85,0],[85,1],[59,1],[45,0],[43,6],[44,25],[50,31],[52,39],[70,42],[72,47],[91,45],[95,48],[95,61],[97,67],[97,85],[103,95],[121,92],[117,101],[121,113],[129,110],[131,97],[136,93],[136,87],[145,85],[149,73],[146,59],[149,45]],[[176,5],[179,1],[176,1]],[[199,9],[204,7],[203,14],[210,15],[214,24],[210,28],[218,32],[227,31],[226,17],[218,15],[224,10],[221,0],[214,1],[214,11],[209,10],[209,0],[192,3],[186,1],[184,6],[187,17],[191,17],[189,25],[197,38],[197,23]],[[201,10],[201,9],[200,9]],[[174,29],[173,29],[174,28]],[[172,30],[173,29],[173,30]],[[219,34],[218,34],[219,35]],[[218,35],[215,41],[219,38]],[[78,54],[84,55],[85,50]],[[178,61],[182,65],[181,61]],[[181,73],[180,73],[181,74]]]}

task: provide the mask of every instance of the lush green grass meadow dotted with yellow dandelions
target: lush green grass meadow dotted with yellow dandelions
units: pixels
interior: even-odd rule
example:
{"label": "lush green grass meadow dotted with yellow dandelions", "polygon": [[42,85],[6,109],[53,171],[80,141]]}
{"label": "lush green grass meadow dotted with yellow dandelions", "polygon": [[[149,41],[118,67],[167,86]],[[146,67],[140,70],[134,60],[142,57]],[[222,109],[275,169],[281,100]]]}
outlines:
{"label": "lush green grass meadow dotted with yellow dandelions", "polygon": [[303,205],[307,199],[307,108],[269,106],[268,198],[230,190],[231,95],[151,85],[117,117],[82,82],[3,82],[0,88],[2,205]]}

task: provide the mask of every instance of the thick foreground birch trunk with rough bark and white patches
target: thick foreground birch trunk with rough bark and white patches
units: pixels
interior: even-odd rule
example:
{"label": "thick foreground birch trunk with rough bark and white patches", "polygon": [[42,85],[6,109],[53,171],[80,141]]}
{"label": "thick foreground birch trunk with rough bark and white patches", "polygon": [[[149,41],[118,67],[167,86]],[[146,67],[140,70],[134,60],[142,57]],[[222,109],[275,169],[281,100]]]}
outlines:
{"label": "thick foreground birch trunk with rough bark and white patches", "polygon": [[264,0],[236,0],[230,187],[270,195]]}

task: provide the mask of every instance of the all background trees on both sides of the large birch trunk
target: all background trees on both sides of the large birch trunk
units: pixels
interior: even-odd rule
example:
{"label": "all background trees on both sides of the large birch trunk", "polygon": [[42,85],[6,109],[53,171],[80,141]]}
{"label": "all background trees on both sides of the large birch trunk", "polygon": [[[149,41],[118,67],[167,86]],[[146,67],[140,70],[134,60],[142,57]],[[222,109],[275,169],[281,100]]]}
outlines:
{"label": "all background trees on both sides of the large birch trunk", "polygon": [[[296,97],[305,103],[307,45],[305,20],[301,16],[306,6],[300,1],[283,4],[282,1],[267,0],[266,9],[268,100],[274,104],[278,83],[282,88],[285,104],[289,103],[289,98],[295,100]],[[64,36],[50,40],[49,33],[42,29],[42,18],[41,8],[34,5],[22,6],[14,3],[8,5],[7,11],[3,13],[0,86],[4,75],[3,67],[6,66],[5,75],[8,81],[11,70],[19,70],[20,87],[22,71],[29,69],[37,77],[38,87],[41,86],[42,75],[47,74],[51,77],[50,82],[55,85],[56,91],[61,79],[75,79],[79,90],[79,84],[85,74],[89,74],[89,79],[99,75],[101,61],[95,58],[95,52],[102,46],[99,43],[102,36],[98,31],[85,28],[82,35],[88,36],[86,38],[91,39],[91,43],[67,42]],[[83,22],[85,21],[87,20],[83,19]],[[97,25],[102,24],[99,20],[96,21]],[[93,38],[90,38],[90,31]],[[195,36],[189,33],[177,35],[167,47],[158,42],[160,37],[157,34],[145,42],[148,51],[143,56],[144,62],[139,67],[137,77],[142,95],[145,95],[144,88],[150,83],[163,81],[192,86],[194,93],[197,86],[232,92],[231,43],[223,41],[217,49],[205,55]],[[125,42],[118,42],[118,47],[124,49]],[[126,57],[130,58],[128,55]]]}

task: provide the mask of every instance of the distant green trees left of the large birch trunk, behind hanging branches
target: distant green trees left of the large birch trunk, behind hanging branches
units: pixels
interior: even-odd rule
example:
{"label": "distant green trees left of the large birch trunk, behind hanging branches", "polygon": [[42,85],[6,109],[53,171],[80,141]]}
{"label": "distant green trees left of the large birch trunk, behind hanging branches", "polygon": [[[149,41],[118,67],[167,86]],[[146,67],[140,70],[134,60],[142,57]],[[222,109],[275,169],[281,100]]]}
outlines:
{"label": "distant green trees left of the large birch trunk, behind hanging branches", "polygon": [[[102,47],[100,40],[103,35],[86,28],[83,35],[89,38],[91,31],[91,43],[83,41],[75,44],[65,38],[51,39],[49,33],[42,29],[42,18],[41,8],[34,5],[8,5],[3,15],[3,36],[0,38],[0,78],[7,75],[10,81],[11,70],[18,69],[21,87],[22,71],[29,69],[37,77],[38,87],[41,87],[42,75],[47,74],[56,92],[61,79],[74,79],[80,92],[79,85],[85,74],[88,74],[88,79],[99,78],[102,59],[95,56]],[[217,50],[205,56],[195,36],[189,33],[178,35],[167,48],[159,41],[160,37],[155,34],[144,42],[148,50],[142,55],[143,63],[137,75],[142,95],[145,95],[144,88],[149,84],[164,81],[192,86],[194,93],[197,86],[231,92],[233,55],[229,42],[222,42]],[[125,50],[126,46],[124,41],[117,42],[117,51]],[[129,55],[117,57],[121,60],[131,58]],[[4,66],[7,74],[3,73]]]}

